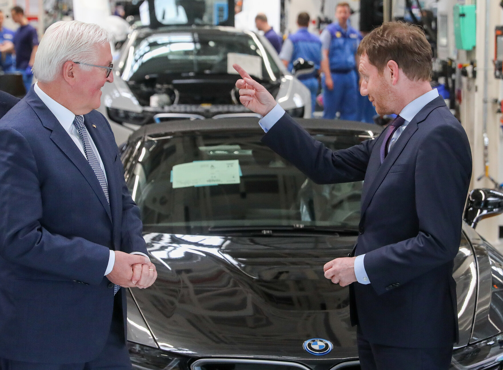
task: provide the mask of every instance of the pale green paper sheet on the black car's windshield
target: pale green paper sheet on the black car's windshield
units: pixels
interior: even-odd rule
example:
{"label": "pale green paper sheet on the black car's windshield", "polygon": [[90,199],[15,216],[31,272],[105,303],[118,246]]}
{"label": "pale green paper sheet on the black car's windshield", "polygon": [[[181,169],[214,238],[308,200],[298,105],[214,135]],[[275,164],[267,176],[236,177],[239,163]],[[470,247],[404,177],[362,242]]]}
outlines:
{"label": "pale green paper sheet on the black car's windshield", "polygon": [[200,161],[173,166],[173,188],[239,184],[239,160]]}

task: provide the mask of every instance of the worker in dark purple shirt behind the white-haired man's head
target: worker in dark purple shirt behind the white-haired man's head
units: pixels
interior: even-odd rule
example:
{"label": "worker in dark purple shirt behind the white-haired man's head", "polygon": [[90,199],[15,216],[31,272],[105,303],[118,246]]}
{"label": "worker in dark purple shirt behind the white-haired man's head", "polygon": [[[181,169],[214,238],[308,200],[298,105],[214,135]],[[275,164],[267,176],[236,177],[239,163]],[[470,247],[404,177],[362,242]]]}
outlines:
{"label": "worker in dark purple shirt behind the white-haired man's head", "polygon": [[26,92],[31,88],[33,73],[31,67],[35,61],[38,48],[37,30],[28,23],[23,8],[17,6],[11,9],[12,20],[19,24],[14,34],[14,51],[16,52],[16,71],[23,75]]}

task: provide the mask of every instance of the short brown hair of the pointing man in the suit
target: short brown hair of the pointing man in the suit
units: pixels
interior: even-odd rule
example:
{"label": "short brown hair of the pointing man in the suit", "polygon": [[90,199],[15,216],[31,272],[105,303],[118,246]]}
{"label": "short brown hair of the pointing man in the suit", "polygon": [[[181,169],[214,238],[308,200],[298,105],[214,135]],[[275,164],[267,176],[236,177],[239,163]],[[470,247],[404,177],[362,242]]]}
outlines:
{"label": "short brown hair of the pointing man in the suit", "polygon": [[357,54],[366,54],[379,73],[388,61],[394,60],[409,80],[431,81],[432,47],[418,26],[405,22],[383,23],[363,38]]}

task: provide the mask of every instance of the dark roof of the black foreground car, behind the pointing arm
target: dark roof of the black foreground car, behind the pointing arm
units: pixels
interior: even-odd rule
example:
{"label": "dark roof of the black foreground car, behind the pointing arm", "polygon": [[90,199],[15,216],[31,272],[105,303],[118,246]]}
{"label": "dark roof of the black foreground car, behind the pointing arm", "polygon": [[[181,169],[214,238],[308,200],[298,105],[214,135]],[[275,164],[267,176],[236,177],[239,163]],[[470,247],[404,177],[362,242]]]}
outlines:
{"label": "dark roof of the black foreground car, behind the pointing arm", "polygon": [[[369,131],[371,136],[377,136],[382,127],[376,124],[345,121],[339,119],[322,119],[322,118],[295,118],[301,126],[311,130],[326,130],[326,131],[348,131],[348,134],[354,132],[364,132],[367,135]],[[133,132],[129,140],[135,140],[143,136],[159,136],[175,132],[187,131],[214,131],[226,129],[259,129],[259,119],[255,117],[240,117],[240,118],[219,118],[219,119],[196,119],[196,120],[177,120],[161,123],[152,123],[140,127]]]}

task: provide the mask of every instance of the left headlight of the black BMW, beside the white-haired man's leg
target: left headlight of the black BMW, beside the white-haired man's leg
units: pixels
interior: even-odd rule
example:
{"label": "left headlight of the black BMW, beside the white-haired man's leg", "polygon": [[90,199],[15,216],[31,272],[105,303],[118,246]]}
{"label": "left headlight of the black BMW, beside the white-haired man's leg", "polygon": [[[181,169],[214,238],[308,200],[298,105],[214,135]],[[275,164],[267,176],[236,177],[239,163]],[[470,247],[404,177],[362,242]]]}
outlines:
{"label": "left headlight of the black BMW, beside the white-haired man's leg", "polygon": [[133,369],[141,370],[181,370],[183,357],[174,356],[160,349],[128,342],[129,357]]}

